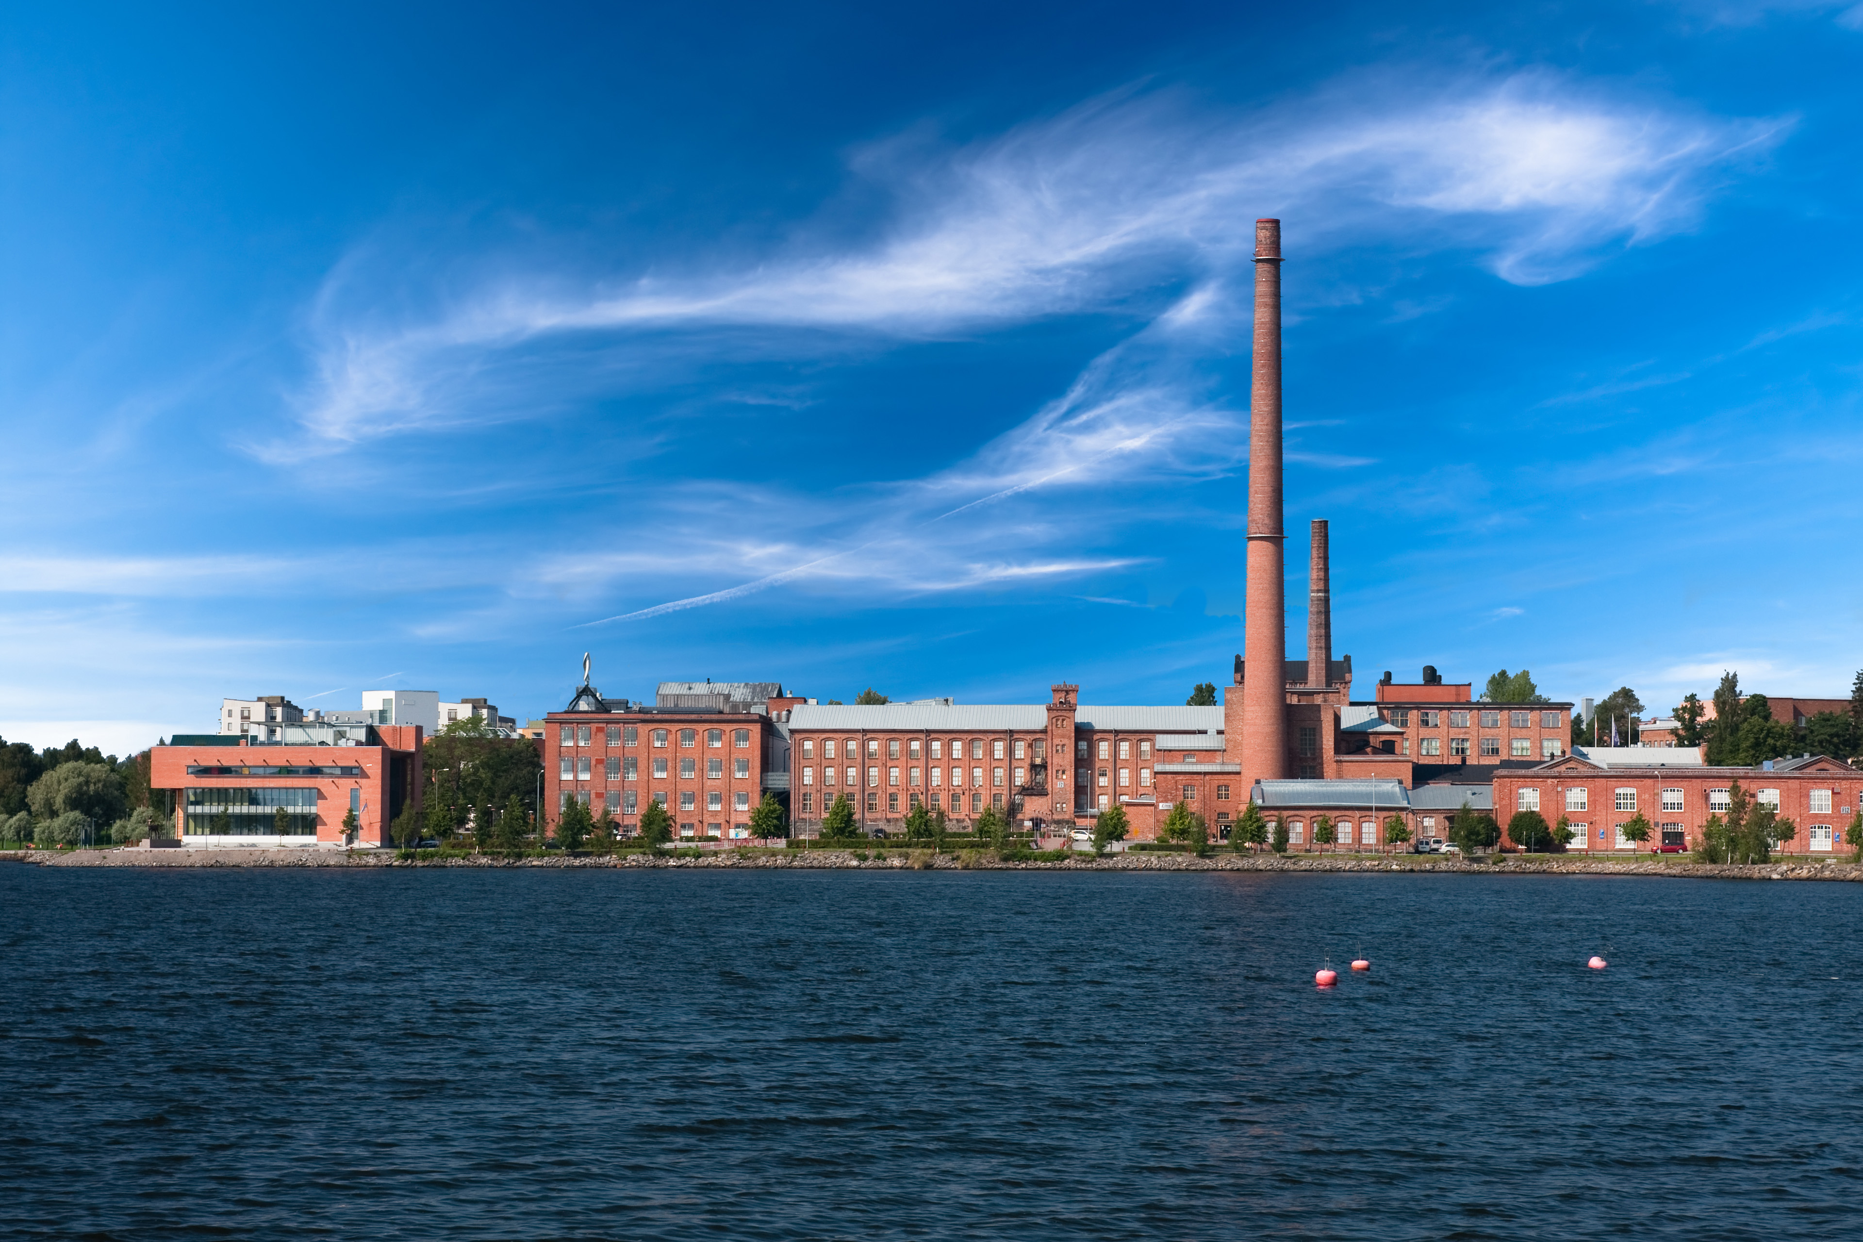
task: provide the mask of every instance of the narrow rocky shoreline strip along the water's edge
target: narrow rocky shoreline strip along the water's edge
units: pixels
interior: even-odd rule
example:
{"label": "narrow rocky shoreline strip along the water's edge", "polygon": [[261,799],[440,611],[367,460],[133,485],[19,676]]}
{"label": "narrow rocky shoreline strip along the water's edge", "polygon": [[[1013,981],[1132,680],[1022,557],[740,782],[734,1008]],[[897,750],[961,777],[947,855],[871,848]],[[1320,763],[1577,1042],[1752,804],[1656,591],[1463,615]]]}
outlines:
{"label": "narrow rocky shoreline strip along the water's edge", "polygon": [[[866,851],[863,851],[866,853]],[[877,853],[879,857],[872,857]],[[941,871],[1399,871],[1461,875],[1662,875],[1669,879],[1805,879],[1863,881],[1863,868],[1837,858],[1792,858],[1762,866],[1714,866],[1664,858],[1503,857],[1462,862],[1433,855],[1213,855],[1118,853],[1066,860],[1004,862],[984,851],[935,855],[930,849],[885,849],[859,858],[851,849],[721,849],[700,857],[572,855],[546,858],[423,857],[399,858],[388,849],[75,849],[13,851],[0,860],[39,866],[102,868],[689,868],[689,870],[941,870]]]}

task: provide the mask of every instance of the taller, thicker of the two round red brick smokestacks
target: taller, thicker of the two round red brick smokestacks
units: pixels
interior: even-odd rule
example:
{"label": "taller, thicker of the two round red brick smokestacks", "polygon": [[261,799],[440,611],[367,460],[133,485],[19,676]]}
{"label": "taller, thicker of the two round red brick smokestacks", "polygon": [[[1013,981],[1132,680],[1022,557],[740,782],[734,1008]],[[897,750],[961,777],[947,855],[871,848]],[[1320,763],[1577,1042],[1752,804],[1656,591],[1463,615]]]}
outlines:
{"label": "taller, thicker of the two round red brick smokestacks", "polygon": [[1256,220],[1256,352],[1248,387],[1248,607],[1243,788],[1287,767],[1287,585],[1282,579],[1280,220]]}

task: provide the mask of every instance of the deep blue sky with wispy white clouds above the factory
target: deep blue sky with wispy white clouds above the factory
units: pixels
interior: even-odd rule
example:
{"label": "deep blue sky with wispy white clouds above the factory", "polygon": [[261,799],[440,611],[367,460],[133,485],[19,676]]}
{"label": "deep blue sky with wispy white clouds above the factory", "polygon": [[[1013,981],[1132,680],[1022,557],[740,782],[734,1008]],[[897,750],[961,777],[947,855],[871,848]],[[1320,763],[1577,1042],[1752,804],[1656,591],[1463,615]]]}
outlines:
{"label": "deep blue sky with wispy white clouds above the factory", "polygon": [[658,7],[9,11],[0,734],[1181,702],[1256,216],[1366,695],[1848,693],[1863,6]]}

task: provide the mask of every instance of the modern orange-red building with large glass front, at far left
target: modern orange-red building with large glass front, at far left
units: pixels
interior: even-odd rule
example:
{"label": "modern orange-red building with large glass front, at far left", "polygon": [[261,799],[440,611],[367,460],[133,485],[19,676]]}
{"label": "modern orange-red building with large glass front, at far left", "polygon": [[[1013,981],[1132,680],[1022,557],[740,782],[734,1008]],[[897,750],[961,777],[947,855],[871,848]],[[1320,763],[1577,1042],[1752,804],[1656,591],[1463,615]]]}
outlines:
{"label": "modern orange-red building with large glass front, at far left", "polygon": [[[285,724],[281,734],[276,743],[197,734],[153,749],[149,786],[175,793],[183,845],[389,845],[393,819],[421,812],[419,724]],[[345,834],[352,810],[358,827]]]}

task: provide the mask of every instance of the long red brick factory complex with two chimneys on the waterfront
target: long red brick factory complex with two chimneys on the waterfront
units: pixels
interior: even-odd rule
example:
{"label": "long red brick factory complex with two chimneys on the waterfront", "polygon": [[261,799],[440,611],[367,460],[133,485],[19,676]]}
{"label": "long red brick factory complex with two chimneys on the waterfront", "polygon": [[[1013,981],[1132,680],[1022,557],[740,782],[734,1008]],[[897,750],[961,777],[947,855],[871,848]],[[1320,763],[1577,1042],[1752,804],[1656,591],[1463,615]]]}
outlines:
{"label": "long red brick factory complex with two chimneys on the waterfront", "polygon": [[[1310,825],[1325,814],[1338,823],[1341,847],[1382,847],[1392,816],[1412,834],[1440,836],[1466,803],[1505,825],[1520,790],[1559,786],[1546,773],[1571,765],[1576,778],[1619,762],[1569,754],[1572,704],[1481,702],[1472,682],[1444,682],[1429,665],[1418,682],[1386,672],[1371,698],[1354,700],[1353,657],[1332,657],[1325,520],[1308,527],[1306,657],[1287,657],[1280,259],[1280,222],[1259,220],[1244,650],[1222,706],[1095,706],[1075,683],[1056,683],[1047,702],[1030,704],[822,706],[777,683],[687,682],[661,683],[646,708],[604,700],[587,683],[585,663],[576,698],[546,721],[546,817],[578,797],[607,806],[628,830],[660,799],[680,836],[728,840],[749,834],[749,808],[766,791],[786,799],[803,832],[846,793],[870,832],[896,832],[917,804],[959,827],[986,806],[1027,825],[1069,825],[1123,804],[1133,836],[1144,840],[1163,812],[1183,803],[1222,840],[1254,799],[1299,825],[1295,845],[1312,844]],[[1677,750],[1667,754],[1682,762]],[[1781,797],[1805,784],[1815,806],[1816,780],[1824,790],[1841,784],[1829,763],[1779,769]],[[1645,801],[1673,788],[1662,784],[1660,767],[1621,771]],[[1684,790],[1695,784],[1688,776]],[[1712,788],[1684,797],[1707,804]]]}

